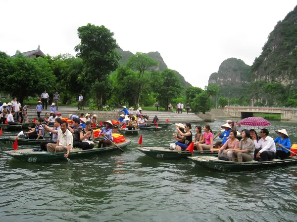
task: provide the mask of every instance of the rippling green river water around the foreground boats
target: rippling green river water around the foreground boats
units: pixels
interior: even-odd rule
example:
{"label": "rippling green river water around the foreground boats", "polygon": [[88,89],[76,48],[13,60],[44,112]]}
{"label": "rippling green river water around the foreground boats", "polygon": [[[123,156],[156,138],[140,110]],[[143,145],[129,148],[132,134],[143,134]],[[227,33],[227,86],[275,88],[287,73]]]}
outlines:
{"label": "rippling green river water around the foreground boats", "polygon": [[[224,123],[209,124],[215,132]],[[286,128],[297,143],[297,123],[271,123],[270,136]],[[142,131],[143,146],[168,146],[173,132]],[[135,149],[139,136],[126,138],[125,153],[70,162],[29,164],[1,152],[0,221],[297,221],[297,166],[216,172],[146,156]]]}

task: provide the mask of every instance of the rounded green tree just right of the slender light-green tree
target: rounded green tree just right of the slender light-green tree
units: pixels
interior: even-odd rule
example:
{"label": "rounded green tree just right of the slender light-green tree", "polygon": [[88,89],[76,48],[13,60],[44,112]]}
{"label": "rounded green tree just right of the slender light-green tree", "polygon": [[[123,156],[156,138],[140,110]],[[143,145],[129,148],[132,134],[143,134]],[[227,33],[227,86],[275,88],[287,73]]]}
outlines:
{"label": "rounded green tree just right of the slender light-green tree", "polygon": [[[156,83],[155,92],[159,94],[159,103],[163,104],[167,111],[169,103],[173,98],[176,98],[181,94],[183,87],[174,70],[165,69],[158,78],[156,77],[157,76],[154,76],[153,78]],[[156,81],[156,79],[158,80]]]}

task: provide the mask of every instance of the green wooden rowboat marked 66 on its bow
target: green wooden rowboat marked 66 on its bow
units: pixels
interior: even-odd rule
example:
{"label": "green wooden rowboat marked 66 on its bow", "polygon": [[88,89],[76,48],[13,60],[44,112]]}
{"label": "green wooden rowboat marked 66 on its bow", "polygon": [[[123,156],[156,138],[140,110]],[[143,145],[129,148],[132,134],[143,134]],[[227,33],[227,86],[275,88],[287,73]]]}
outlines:
{"label": "green wooden rowboat marked 66 on its bow", "polygon": [[[131,144],[131,140],[126,140],[125,142],[116,144],[118,147],[125,149],[129,147]],[[7,150],[3,151],[7,155],[24,161],[28,163],[50,163],[50,162],[57,162],[57,161],[67,161],[67,158],[64,157],[65,152],[46,152],[46,151],[33,151],[33,148],[39,147],[31,147],[31,148],[18,148],[17,150]],[[68,159],[74,158],[84,158],[92,155],[98,155],[105,152],[113,152],[118,151],[119,148],[115,146],[110,146],[106,148],[93,148],[88,150],[82,150],[80,148],[73,148],[73,151],[69,153]]]}

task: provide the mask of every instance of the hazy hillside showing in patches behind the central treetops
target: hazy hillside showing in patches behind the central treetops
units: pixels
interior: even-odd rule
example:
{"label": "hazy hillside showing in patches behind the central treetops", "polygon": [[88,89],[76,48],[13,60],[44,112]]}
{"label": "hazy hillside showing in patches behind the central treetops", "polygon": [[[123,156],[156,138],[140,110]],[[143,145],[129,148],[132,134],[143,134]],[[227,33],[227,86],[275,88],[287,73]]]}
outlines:
{"label": "hazy hillside showing in patches behind the central treetops", "polygon": [[[121,48],[117,48],[116,51],[119,55],[122,56],[122,59],[120,60],[121,66],[125,66],[129,60],[130,56],[134,55],[132,52],[124,51]],[[156,70],[156,71],[162,72],[163,70],[168,68],[159,52],[148,52],[148,53],[144,53],[144,54],[148,55],[150,58],[153,58],[159,62],[157,67],[152,67],[150,70]],[[177,71],[175,71],[175,72],[179,76],[182,86],[184,86],[184,87],[192,86],[189,82],[187,82],[185,80],[184,76],[179,74]]]}

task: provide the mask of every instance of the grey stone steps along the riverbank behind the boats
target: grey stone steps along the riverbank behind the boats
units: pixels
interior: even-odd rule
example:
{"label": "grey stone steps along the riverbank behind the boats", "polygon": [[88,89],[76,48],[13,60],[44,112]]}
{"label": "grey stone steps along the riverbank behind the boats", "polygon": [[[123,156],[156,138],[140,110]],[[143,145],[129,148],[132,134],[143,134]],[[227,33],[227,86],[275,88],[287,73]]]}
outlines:
{"label": "grey stone steps along the riverbank behind the boats", "polygon": [[[48,107],[49,108],[49,107]],[[62,113],[62,117],[67,117],[69,114],[75,114],[80,116],[80,113],[93,113],[98,115],[98,120],[116,120],[119,118],[121,112],[119,111],[78,111],[75,107],[59,107],[59,112]],[[41,116],[44,117],[46,112],[50,112],[49,110],[45,110],[41,113]],[[133,112],[134,114],[136,112]],[[149,116],[149,120],[152,120],[155,115],[159,118],[160,122],[165,122],[166,119],[169,119],[169,122],[204,122],[205,120],[200,118],[195,113],[183,112],[176,113],[172,111],[143,111],[144,114]],[[35,111],[35,107],[30,107],[28,109],[28,118],[33,119],[37,118],[37,112]]]}

